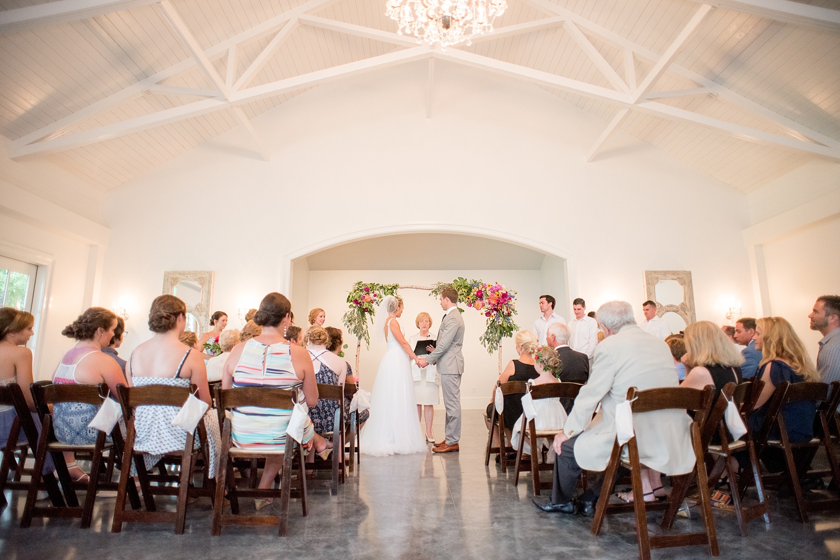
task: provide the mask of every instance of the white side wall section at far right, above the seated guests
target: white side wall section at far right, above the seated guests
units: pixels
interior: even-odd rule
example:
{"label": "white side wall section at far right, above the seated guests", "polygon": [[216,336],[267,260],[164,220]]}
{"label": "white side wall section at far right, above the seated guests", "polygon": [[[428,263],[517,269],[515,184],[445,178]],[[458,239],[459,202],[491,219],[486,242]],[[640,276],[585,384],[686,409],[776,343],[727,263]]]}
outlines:
{"label": "white side wall section at far right, above the seated guests", "polygon": [[824,294],[840,293],[840,217],[764,246],[770,305],[793,324],[816,360],[822,334],[809,328],[808,314]]}

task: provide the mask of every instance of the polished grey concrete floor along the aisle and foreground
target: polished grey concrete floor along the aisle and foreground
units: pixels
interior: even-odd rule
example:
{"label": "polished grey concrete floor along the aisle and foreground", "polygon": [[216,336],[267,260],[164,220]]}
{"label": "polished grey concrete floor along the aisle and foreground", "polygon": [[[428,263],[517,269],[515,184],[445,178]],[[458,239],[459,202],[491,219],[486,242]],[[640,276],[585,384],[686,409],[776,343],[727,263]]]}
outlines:
{"label": "polished grey concrete floor along the aisle and foreground", "polygon": [[[443,433],[436,418],[435,433]],[[77,520],[36,520],[19,528],[24,500],[16,493],[0,511],[0,558],[24,559],[192,559],[243,558],[417,558],[538,560],[542,558],[637,558],[632,514],[607,519],[601,537],[583,516],[538,511],[531,504],[528,476],[518,488],[512,474],[496,464],[484,466],[486,428],[480,411],[465,411],[459,454],[362,457],[339,494],[311,490],[309,515],[292,500],[289,537],[276,528],[229,526],[210,536],[210,503],[202,498],[187,511],[186,533],[171,526],[126,524],[109,529],[113,498],[97,500],[93,526]],[[544,476],[548,473],[543,474]],[[546,493],[546,492],[543,492]],[[7,492],[7,497],[12,497]],[[753,521],[750,536],[738,533],[734,516],[716,511],[723,558],[840,557],[840,514],[817,514],[805,525],[796,521],[790,499],[771,494],[772,524]],[[264,510],[266,511],[266,510]],[[648,516],[652,533],[657,517]],[[675,530],[697,530],[698,516],[678,518]],[[654,550],[655,558],[704,558],[704,547]]]}

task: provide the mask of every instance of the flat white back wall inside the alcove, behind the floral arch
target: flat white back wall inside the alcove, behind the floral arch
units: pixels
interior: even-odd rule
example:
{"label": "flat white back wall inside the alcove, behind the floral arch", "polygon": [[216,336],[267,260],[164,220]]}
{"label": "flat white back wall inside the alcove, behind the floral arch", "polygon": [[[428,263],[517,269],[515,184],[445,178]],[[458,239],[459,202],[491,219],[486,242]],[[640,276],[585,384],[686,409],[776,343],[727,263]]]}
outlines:
{"label": "flat white back wall inside the alcove, behind the floral arch", "polygon": [[[376,283],[401,283],[429,286],[435,282],[448,282],[456,277],[466,277],[486,282],[500,282],[507,288],[517,290],[517,311],[515,319],[521,329],[531,329],[533,320],[537,318],[539,309],[537,306],[540,294],[539,271],[535,270],[340,270],[340,271],[312,271],[309,272],[309,305],[306,309],[296,309],[295,316],[299,325],[306,325],[305,319],[309,309],[322,308],[327,314],[325,326],[338,327],[345,331],[344,342],[348,345],[344,350],[346,359],[350,366],[355,367],[356,340],[354,336],[346,333],[344,325],[341,324],[341,317],[348,309],[346,302],[347,293],[354,283],[358,281]],[[440,309],[438,298],[433,298],[423,290],[404,289],[400,291],[400,297],[405,301],[405,312],[402,314],[400,324],[406,336],[416,334],[419,329],[414,324],[417,314],[425,311],[432,316],[432,333],[438,332],[440,318],[444,312]],[[465,372],[461,379],[461,402],[465,408],[483,408],[490,402],[492,386],[498,377],[498,354],[488,354],[484,346],[478,340],[485,330],[485,317],[475,309],[470,309],[461,304],[465,309],[465,339],[464,339],[464,361]],[[503,366],[508,360],[517,357],[511,340],[502,342]],[[376,371],[382,355],[385,354],[386,345],[384,342],[377,342],[373,326],[370,326],[370,350],[365,348],[362,342],[360,357],[360,385],[370,391],[375,380]],[[441,402],[443,403],[443,402]]]}

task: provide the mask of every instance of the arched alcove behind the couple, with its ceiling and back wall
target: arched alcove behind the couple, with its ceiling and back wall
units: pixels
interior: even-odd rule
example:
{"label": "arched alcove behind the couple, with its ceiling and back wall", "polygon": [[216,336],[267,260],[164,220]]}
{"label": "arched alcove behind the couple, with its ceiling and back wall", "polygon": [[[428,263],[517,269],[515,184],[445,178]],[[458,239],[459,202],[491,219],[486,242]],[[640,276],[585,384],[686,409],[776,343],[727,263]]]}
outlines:
{"label": "arched alcove behind the couple, with its ceiling and back wall", "polygon": [[[531,329],[538,315],[538,298],[551,293],[557,311],[569,317],[570,256],[562,251],[498,232],[444,230],[439,226],[410,231],[360,232],[339,240],[324,241],[286,257],[286,293],[290,294],[297,324],[307,324],[309,309],[327,312],[327,325],[343,328],[345,298],[354,282],[430,285],[467,277],[497,281],[517,290],[517,324]],[[425,291],[403,289],[406,312],[401,324],[406,334],[417,331],[414,319],[421,311],[433,317],[436,332],[442,311],[436,298]],[[497,355],[480,345],[485,318],[465,313],[465,376],[461,398],[465,408],[481,408],[489,402],[496,378]],[[370,350],[362,346],[361,386],[370,390],[385,345],[371,337]],[[347,360],[354,364],[355,339],[347,336]],[[505,340],[502,358],[515,358],[512,342]]]}

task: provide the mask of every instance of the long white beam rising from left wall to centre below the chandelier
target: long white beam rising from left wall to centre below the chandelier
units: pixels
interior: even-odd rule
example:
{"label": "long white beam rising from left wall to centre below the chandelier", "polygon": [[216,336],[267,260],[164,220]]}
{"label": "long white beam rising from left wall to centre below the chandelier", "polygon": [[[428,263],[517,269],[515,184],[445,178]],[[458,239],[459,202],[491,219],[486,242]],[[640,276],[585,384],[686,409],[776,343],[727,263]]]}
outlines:
{"label": "long white beam rising from left wall to centre below the chandelier", "polygon": [[92,128],[83,132],[76,132],[66,136],[51,138],[45,142],[34,144],[12,144],[9,150],[11,158],[20,159],[30,156],[55,153],[63,150],[86,146],[87,144],[102,142],[110,138],[120,137],[133,132],[140,132],[149,128],[160,127],[171,122],[181,121],[187,118],[198,117],[213,111],[232,108],[250,101],[259,101],[266,97],[278,96],[290,91],[302,90],[307,87],[318,86],[325,81],[335,80],[346,75],[355,75],[360,72],[384,68],[386,66],[398,65],[412,60],[428,58],[431,51],[426,47],[415,47],[413,49],[398,50],[388,54],[371,57],[370,59],[357,60],[345,65],[333,66],[325,70],[317,70],[304,75],[297,75],[285,80],[277,80],[261,86],[249,87],[243,91],[234,91],[229,100],[225,101],[220,97],[193,101],[186,105],[165,109],[134,117],[122,122]]}

